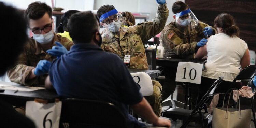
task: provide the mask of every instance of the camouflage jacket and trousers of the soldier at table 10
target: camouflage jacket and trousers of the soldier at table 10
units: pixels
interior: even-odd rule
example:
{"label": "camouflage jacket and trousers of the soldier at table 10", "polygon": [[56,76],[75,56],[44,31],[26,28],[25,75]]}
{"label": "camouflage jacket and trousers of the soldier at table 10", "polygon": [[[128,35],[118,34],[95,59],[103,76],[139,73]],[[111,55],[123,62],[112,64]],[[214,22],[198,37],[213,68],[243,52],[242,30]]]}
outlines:
{"label": "camouflage jacket and trousers of the soldier at table 10", "polygon": [[[182,58],[193,58],[194,53],[197,51],[196,44],[203,38],[207,38],[204,35],[205,27],[211,27],[203,22],[198,22],[198,26],[191,30],[188,27],[181,28],[179,25],[175,24],[175,20],[168,23],[163,31],[161,32],[160,39],[162,39],[163,47],[165,48],[165,55],[171,56],[176,54],[175,56]],[[212,35],[216,33],[216,30],[213,29]],[[159,39],[159,40],[160,40]],[[168,55],[170,54],[170,55]],[[169,67],[164,67],[162,74],[165,75],[165,85],[163,87],[163,99],[169,97],[176,88],[175,75],[177,72],[177,67],[170,65]],[[194,92],[197,90],[194,90]]]}

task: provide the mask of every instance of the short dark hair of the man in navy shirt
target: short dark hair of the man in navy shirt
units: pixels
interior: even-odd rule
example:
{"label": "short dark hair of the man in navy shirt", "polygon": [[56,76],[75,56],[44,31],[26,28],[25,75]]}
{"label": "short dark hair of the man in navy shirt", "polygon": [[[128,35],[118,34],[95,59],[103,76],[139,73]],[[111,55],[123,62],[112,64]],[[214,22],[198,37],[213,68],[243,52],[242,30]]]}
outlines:
{"label": "short dark hair of the man in navy shirt", "polygon": [[74,43],[90,43],[96,31],[99,31],[97,19],[91,11],[73,14],[68,23],[69,35]]}

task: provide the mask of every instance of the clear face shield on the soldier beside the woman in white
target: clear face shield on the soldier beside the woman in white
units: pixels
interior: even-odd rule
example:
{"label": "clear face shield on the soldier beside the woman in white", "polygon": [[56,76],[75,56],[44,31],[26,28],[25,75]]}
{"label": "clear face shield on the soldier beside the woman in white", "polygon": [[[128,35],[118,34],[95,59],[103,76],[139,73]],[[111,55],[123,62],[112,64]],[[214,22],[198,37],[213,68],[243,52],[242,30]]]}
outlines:
{"label": "clear face shield on the soldier beside the woman in white", "polygon": [[197,17],[190,9],[176,13],[175,20],[181,27],[189,26],[191,29],[195,29],[195,27],[198,26]]}

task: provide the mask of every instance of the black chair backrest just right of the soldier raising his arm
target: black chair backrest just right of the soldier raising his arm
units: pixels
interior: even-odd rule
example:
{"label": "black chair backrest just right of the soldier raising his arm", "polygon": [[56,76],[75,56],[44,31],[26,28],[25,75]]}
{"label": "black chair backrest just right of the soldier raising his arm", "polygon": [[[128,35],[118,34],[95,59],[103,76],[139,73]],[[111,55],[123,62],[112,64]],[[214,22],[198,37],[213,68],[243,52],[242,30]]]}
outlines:
{"label": "black chair backrest just right of the soldier raising his arm", "polygon": [[145,49],[149,70],[156,70],[156,49]]}

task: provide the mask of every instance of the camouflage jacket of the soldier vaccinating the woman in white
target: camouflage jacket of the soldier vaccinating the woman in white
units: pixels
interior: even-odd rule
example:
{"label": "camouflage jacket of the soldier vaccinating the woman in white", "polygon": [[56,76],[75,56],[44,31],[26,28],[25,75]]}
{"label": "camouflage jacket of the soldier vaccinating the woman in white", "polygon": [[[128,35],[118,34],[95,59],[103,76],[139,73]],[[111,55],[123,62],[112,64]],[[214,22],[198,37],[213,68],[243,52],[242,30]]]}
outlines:
{"label": "camouflage jacket of the soldier vaccinating the woman in white", "polygon": [[[198,26],[190,30],[189,27],[181,28],[175,24],[175,20],[168,23],[163,31],[161,37],[163,41],[163,47],[165,53],[175,53],[179,57],[193,58],[196,52],[196,44],[203,38],[207,38],[204,35],[203,28],[211,27],[203,22],[198,22]],[[213,29],[212,35],[215,34],[216,30]]]}

